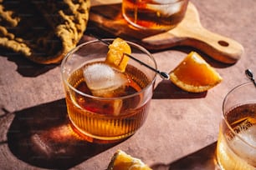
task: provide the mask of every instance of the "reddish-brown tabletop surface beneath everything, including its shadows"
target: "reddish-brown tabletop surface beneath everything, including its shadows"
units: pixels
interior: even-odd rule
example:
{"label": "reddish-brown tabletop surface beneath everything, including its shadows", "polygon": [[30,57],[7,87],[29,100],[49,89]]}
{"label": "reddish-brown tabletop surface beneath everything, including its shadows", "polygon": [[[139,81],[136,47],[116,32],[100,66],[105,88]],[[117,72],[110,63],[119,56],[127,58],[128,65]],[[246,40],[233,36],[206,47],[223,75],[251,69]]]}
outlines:
{"label": "reddish-brown tabletop surface beneath everything, including its shadows", "polygon": [[[70,131],[59,65],[37,65],[0,49],[0,169],[105,169],[117,149],[154,169],[213,169],[223,97],[248,81],[245,69],[256,74],[256,2],[192,2],[202,26],[241,43],[243,56],[228,65],[200,53],[223,77],[208,92],[184,92],[158,77],[146,123],[122,143],[86,143]],[[89,23],[82,42],[92,39],[90,32],[110,37]],[[169,72],[192,50],[172,47],[152,53],[159,69]]]}

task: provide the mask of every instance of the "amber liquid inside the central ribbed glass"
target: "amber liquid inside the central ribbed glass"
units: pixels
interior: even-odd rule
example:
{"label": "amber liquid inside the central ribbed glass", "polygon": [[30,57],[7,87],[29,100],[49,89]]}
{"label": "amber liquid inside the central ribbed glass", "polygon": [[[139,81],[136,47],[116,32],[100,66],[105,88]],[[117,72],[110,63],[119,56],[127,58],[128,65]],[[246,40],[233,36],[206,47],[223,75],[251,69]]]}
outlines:
{"label": "amber liquid inside the central ribbed glass", "polygon": [[[129,83],[125,91],[115,92],[119,97],[133,94],[146,87],[150,81],[146,75],[128,65],[125,76]],[[81,92],[90,94],[90,89],[84,82],[82,68],[76,70],[70,77],[69,83]],[[131,136],[146,120],[147,109],[151,96],[143,94],[126,98],[92,98],[66,90],[66,102],[69,120],[74,130],[82,134],[90,142],[108,143]],[[145,98],[147,98],[145,100]],[[120,104],[121,103],[121,104]],[[121,107],[120,107],[121,105]],[[120,112],[114,113],[115,107]]]}

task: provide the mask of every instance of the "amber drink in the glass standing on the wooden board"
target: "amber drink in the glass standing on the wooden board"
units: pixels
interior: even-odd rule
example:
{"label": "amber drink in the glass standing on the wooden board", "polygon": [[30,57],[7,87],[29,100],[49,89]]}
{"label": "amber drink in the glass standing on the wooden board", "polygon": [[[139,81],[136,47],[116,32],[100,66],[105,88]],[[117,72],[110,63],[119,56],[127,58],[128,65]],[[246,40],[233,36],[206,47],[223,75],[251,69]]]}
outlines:
{"label": "amber drink in the glass standing on the wooden board", "polygon": [[187,2],[185,0],[176,4],[154,4],[146,0],[123,0],[123,16],[136,28],[165,31],[175,28],[182,21]]}

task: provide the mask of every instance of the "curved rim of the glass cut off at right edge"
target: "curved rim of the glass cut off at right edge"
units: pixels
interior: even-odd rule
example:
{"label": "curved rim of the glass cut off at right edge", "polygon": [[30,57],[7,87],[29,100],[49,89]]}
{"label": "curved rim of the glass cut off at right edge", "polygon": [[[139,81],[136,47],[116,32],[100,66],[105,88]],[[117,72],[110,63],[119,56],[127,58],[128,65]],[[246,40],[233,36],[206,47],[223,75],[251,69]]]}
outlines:
{"label": "curved rim of the glass cut off at right edge", "polygon": [[[247,144],[249,147],[253,148],[253,149],[256,149],[256,146],[253,146],[252,144],[248,143],[246,140],[244,140],[238,133],[236,133],[233,128],[230,126],[226,116],[225,116],[225,103],[227,102],[228,100],[228,96],[230,95],[230,93],[238,90],[239,88],[241,87],[244,87],[244,86],[248,86],[248,85],[253,85],[254,87],[254,84],[253,82],[243,82],[242,84],[239,84],[238,86],[236,87],[233,87],[227,94],[226,96],[224,97],[224,100],[223,100],[223,120],[225,121],[226,125],[228,126],[228,129],[231,131],[231,133],[233,133],[233,135],[235,135],[239,140],[243,141],[243,143]],[[256,87],[255,87],[255,90],[256,90]]]}

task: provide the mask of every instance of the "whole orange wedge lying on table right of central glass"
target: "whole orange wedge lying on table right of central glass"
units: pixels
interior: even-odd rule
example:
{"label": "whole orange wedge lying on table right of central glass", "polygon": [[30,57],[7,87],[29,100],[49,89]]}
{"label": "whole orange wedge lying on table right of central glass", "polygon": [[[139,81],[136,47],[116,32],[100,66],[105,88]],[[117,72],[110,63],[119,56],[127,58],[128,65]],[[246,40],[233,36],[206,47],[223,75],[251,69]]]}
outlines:
{"label": "whole orange wedge lying on table right of central glass", "polygon": [[170,73],[170,79],[187,92],[205,92],[223,80],[197,52],[190,52]]}

